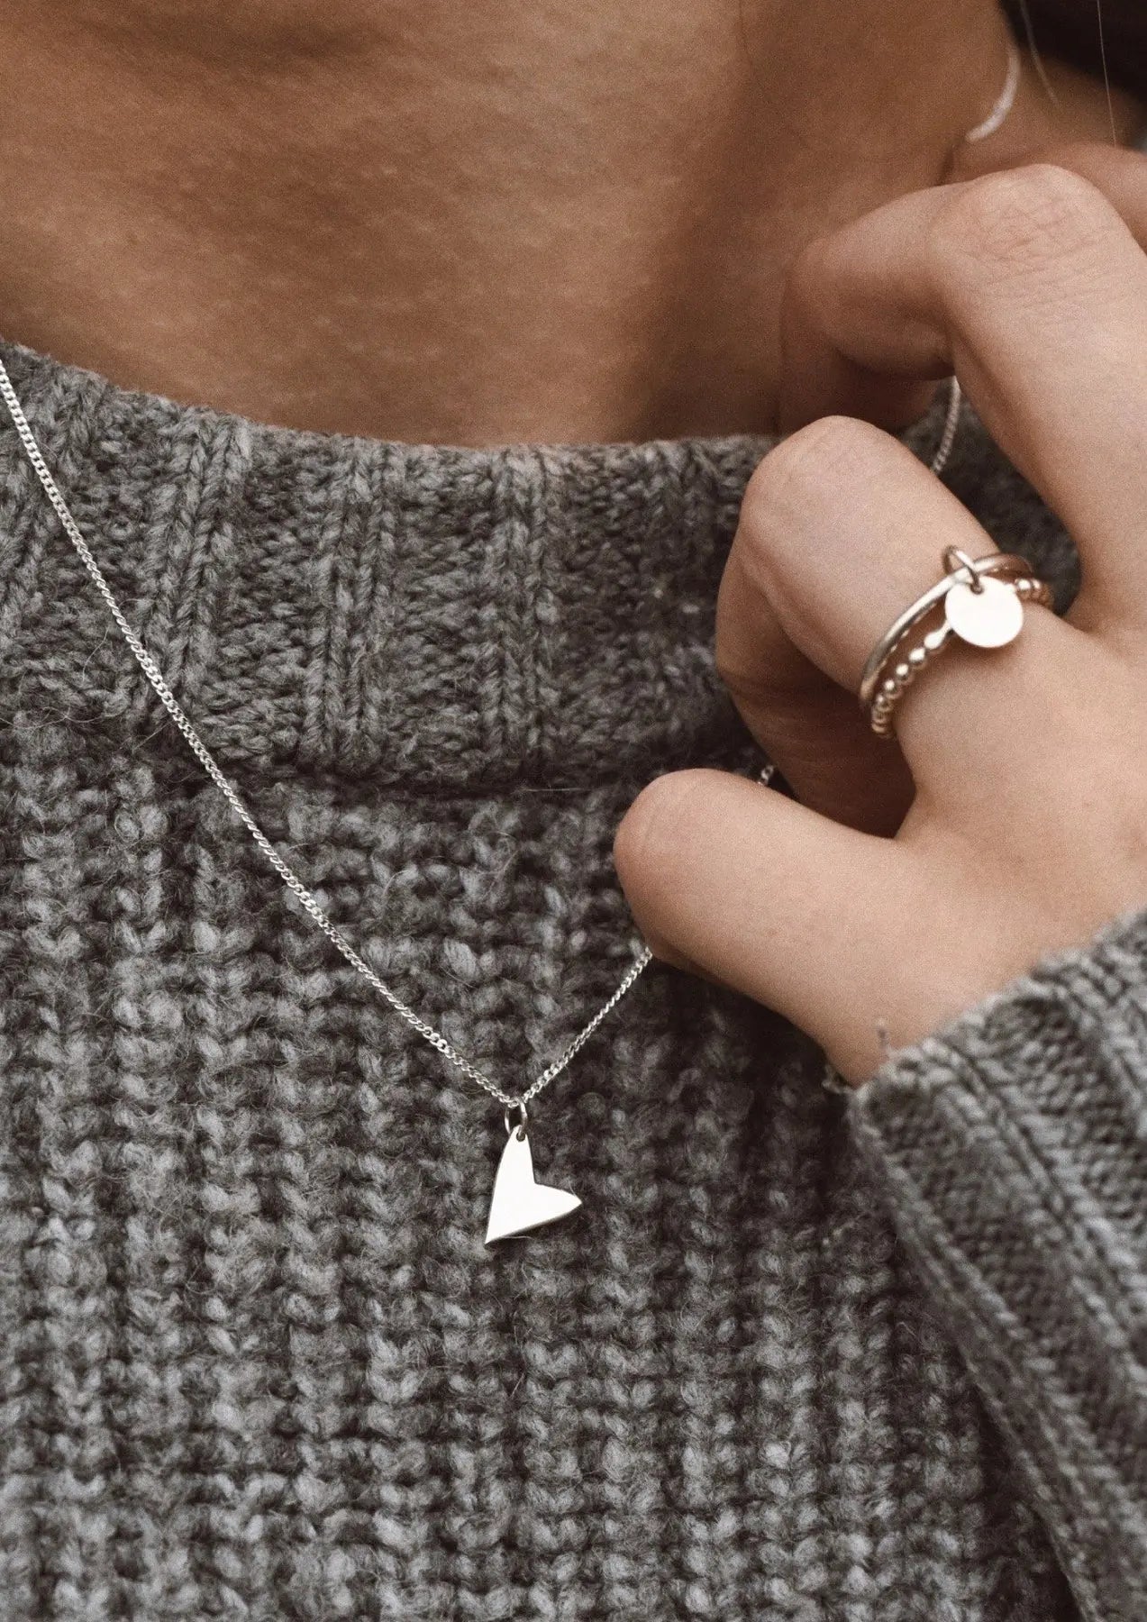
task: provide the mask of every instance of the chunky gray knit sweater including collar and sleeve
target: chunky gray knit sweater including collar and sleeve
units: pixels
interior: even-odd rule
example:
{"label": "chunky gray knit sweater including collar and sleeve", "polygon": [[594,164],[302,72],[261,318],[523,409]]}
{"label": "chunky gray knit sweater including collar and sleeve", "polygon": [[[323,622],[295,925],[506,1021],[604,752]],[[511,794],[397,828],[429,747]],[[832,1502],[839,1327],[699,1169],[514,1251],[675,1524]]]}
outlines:
{"label": "chunky gray knit sweater including collar and sleeve", "polygon": [[[410,448],[0,354],[268,834],[540,1069],[629,960],[634,793],[759,766],[711,637],[766,443]],[[973,420],[949,482],[1069,589]],[[852,1103],[649,970],[539,1100],[584,1210],[487,1251],[500,1109],[263,865],[6,420],[0,803],[5,1622],[1147,1617],[1142,918]]]}

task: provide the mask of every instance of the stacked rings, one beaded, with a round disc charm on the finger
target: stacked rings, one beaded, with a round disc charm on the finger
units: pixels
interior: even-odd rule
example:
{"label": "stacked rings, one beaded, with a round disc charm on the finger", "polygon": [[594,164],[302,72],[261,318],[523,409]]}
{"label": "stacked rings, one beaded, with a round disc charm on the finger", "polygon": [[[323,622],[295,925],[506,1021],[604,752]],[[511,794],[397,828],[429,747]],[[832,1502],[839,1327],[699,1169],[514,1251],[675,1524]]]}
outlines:
{"label": "stacked rings, one beaded, with a round disc charm on the finger", "polygon": [[969,558],[959,547],[944,547],[941,561],[944,577],[894,620],[865,663],[860,704],[881,738],[894,736],[896,706],[952,637],[972,647],[1004,647],[1024,626],[1025,603],[1051,607],[1046,582],[1014,553]]}

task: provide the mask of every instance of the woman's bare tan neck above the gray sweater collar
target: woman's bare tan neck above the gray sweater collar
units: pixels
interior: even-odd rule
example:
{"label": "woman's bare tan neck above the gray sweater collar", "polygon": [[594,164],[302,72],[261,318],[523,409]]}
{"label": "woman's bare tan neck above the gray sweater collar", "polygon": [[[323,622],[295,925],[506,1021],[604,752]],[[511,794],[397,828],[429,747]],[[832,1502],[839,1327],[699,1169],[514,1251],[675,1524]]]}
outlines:
{"label": "woman's bare tan neck above the gray sweater collar", "polygon": [[469,444],[767,431],[792,255],[951,172],[1006,67],[988,0],[10,10],[6,336]]}

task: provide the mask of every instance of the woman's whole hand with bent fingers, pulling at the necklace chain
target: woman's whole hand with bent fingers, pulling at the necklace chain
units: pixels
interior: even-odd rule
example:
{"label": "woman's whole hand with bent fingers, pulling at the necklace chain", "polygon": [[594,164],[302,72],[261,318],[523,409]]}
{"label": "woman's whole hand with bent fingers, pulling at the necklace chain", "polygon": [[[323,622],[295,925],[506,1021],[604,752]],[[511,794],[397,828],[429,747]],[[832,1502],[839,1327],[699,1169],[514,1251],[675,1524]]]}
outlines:
{"label": "woman's whole hand with bent fingers, pulling at the necklace chain", "polygon": [[[675,772],[618,832],[654,952],[779,1009],[853,1082],[1147,903],[1147,157],[1055,156],[905,196],[795,266],[797,431],[748,487],[717,660],[801,803]],[[1004,649],[946,649],[897,746],[858,707],[861,667],[946,545],[994,547],[871,422],[910,420],[952,370],[1084,584]]]}

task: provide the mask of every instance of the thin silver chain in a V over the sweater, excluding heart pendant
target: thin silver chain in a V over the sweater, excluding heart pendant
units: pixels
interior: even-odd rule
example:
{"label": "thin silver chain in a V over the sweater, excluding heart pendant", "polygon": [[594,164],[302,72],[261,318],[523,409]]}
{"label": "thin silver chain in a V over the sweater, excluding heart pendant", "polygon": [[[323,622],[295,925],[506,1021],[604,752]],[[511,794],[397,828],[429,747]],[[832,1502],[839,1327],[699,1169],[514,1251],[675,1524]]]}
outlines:
{"label": "thin silver chain in a V over the sweater, excluding heart pendant", "polygon": [[581,1030],[574,1036],[574,1040],[569,1043],[569,1046],[565,1049],[565,1053],[561,1053],[553,1061],[553,1064],[550,1064],[548,1069],[545,1069],[537,1077],[537,1080],[532,1082],[526,1088],[524,1093],[508,1093],[503,1087],[500,1087],[495,1080],[492,1080],[492,1077],[488,1077],[483,1071],[480,1071],[477,1067],[477,1064],[472,1064],[466,1058],[466,1054],[459,1053],[458,1048],[454,1048],[454,1045],[451,1041],[448,1041],[446,1036],[443,1036],[443,1033],[440,1030],[435,1030],[433,1025],[428,1025],[423,1019],[419,1019],[419,1015],[414,1012],[414,1009],[409,1007],[402,1001],[402,998],[397,996],[397,993],[393,991],[386,985],[384,980],[378,978],[378,975],[370,967],[370,963],[363,962],[363,959],[355,952],[355,949],[350,946],[350,942],[346,939],[346,936],[342,936],[339,933],[339,929],[336,929],[336,926],[326,916],[326,913],[323,912],[323,908],[320,907],[320,903],[315,900],[315,897],[311,895],[311,892],[307,889],[307,886],[303,884],[303,881],[299,878],[297,873],[294,873],[292,868],[287,866],[287,863],[282,860],[282,856],[274,848],[274,845],[271,843],[271,840],[266,837],[266,834],[263,832],[263,829],[258,826],[258,822],[255,821],[255,817],[251,816],[251,813],[247,809],[247,806],[240,800],[238,793],[235,792],[235,788],[232,787],[232,783],[229,782],[229,779],[224,775],[219,762],[211,754],[211,751],[208,749],[208,746],[203,741],[203,738],[200,738],[198,732],[195,730],[195,727],[191,725],[191,722],[187,719],[187,715],[180,709],[178,701],[175,699],[175,694],[172,693],[172,689],[164,681],[164,676],[162,676],[159,667],[156,665],[154,659],[151,657],[151,654],[148,652],[148,649],[143,646],[143,642],[140,641],[140,637],[135,634],[135,631],[128,624],[128,621],[127,621],[127,618],[123,615],[123,610],[120,608],[120,605],[118,605],[118,602],[117,602],[117,599],[115,599],[115,595],[112,592],[112,587],[107,584],[101,566],[96,563],[96,558],[91,553],[91,547],[88,545],[88,542],[84,540],[84,537],[79,534],[79,526],[76,524],[76,521],[73,519],[71,513],[68,511],[67,503],[65,503],[63,496],[60,495],[60,488],[58,488],[55,478],[52,477],[52,474],[49,470],[49,466],[44,461],[44,456],[41,454],[41,448],[36,443],[36,436],[32,435],[32,430],[28,425],[28,418],[24,417],[24,409],[19,404],[19,399],[16,397],[16,391],[11,386],[11,378],[8,376],[8,368],[3,365],[2,360],[0,360],[0,394],[3,394],[3,402],[8,407],[8,412],[10,412],[11,420],[15,423],[16,433],[19,435],[19,443],[23,444],[24,451],[28,453],[28,461],[32,464],[39,482],[44,485],[44,493],[47,495],[47,498],[52,503],[52,506],[55,508],[57,517],[63,524],[63,529],[65,529],[65,534],[67,534],[68,540],[71,542],[71,545],[79,553],[83,566],[88,569],[88,573],[91,574],[92,581],[96,582],[96,590],[99,592],[99,595],[107,603],[107,610],[112,615],[112,620],[115,620],[115,624],[118,626],[123,641],[131,649],[136,663],[143,670],[143,673],[148,678],[148,681],[151,683],[151,686],[156,689],[156,696],[159,697],[159,701],[164,706],[164,709],[167,710],[167,714],[172,717],[172,720],[175,722],[175,725],[178,727],[178,730],[183,733],[183,738],[187,740],[191,753],[198,757],[200,764],[203,766],[203,770],[208,774],[208,777],[216,785],[216,788],[219,790],[219,793],[226,798],[227,805],[232,808],[232,811],[240,819],[240,822],[247,827],[247,832],[251,835],[251,839],[255,840],[255,843],[258,845],[258,848],[263,852],[263,855],[266,856],[266,860],[271,863],[271,866],[274,868],[274,871],[279,874],[279,878],[282,879],[282,882],[287,886],[287,889],[292,890],[292,894],[299,897],[299,900],[307,908],[307,912],[310,913],[310,916],[315,920],[315,923],[318,925],[318,928],[323,931],[323,934],[328,938],[328,941],[331,941],[331,944],[337,947],[337,950],[346,957],[346,960],[350,963],[350,967],[357,968],[359,973],[363,976],[363,980],[368,980],[370,985],[375,988],[375,991],[381,998],[384,998],[386,1002],[389,1002],[391,1009],[397,1015],[401,1015],[401,1019],[404,1019],[407,1022],[407,1025],[410,1025],[414,1030],[417,1030],[417,1033],[422,1036],[423,1041],[428,1041],[432,1048],[436,1048],[438,1053],[441,1053],[441,1056],[449,1064],[453,1064],[456,1071],[461,1071],[462,1075],[467,1077],[467,1080],[474,1082],[483,1092],[490,1093],[490,1096],[496,1098],[498,1103],[501,1103],[501,1105],[506,1106],[506,1109],[518,1109],[522,1105],[526,1105],[531,1098],[537,1098],[537,1095],[542,1092],[542,1088],[548,1087],[550,1082],[555,1080],[555,1077],[558,1077],[561,1074],[561,1071],[565,1071],[565,1067],[569,1064],[569,1061],[574,1058],[574,1054],[579,1053],[579,1049],[594,1035],[594,1032],[602,1023],[602,1020],[608,1014],[613,1012],[613,1009],[618,1006],[618,1002],[626,994],[626,991],[629,989],[629,986],[633,986],[634,980],[642,972],[642,968],[646,968],[647,963],[652,960],[652,952],[649,950],[649,947],[642,947],[641,949],[639,955],[634,959],[634,962],[626,970],[625,978],[621,980],[621,985],[616,988],[616,991],[608,999],[608,1002],[605,1002],[597,1011],[597,1014],[594,1014],[594,1017],[591,1019],[591,1022],[584,1027],[584,1030]]}

